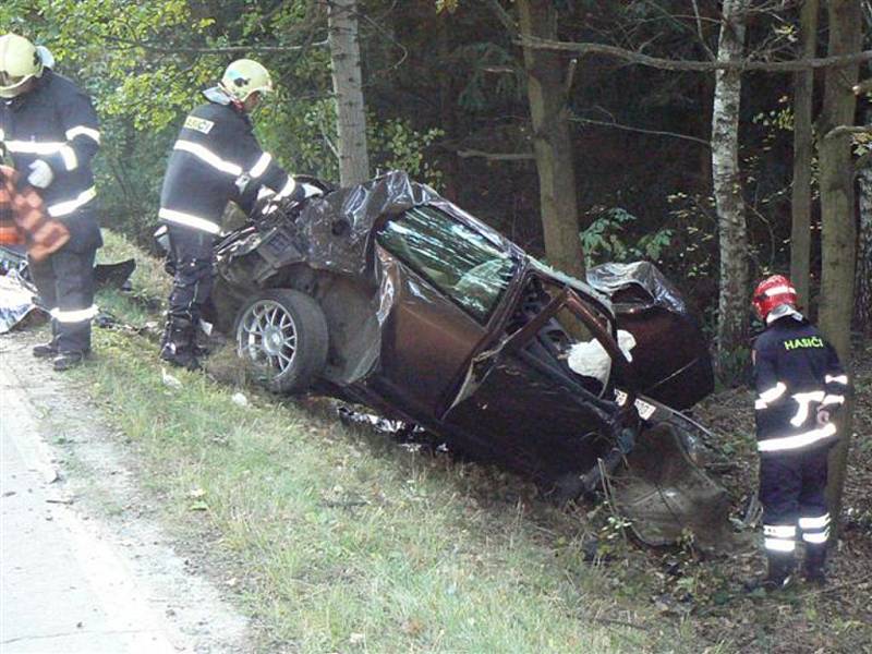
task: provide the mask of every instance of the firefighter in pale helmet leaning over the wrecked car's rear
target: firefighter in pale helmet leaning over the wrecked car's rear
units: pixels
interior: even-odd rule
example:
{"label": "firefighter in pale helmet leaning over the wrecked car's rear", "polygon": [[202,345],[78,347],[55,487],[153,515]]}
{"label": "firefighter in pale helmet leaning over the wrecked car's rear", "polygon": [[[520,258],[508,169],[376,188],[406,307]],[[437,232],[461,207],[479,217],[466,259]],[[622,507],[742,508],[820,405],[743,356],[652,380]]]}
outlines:
{"label": "firefighter in pale helmet leaning over the wrecked car's rear", "polygon": [[249,113],[262,94],[272,90],[267,70],[240,59],[221,83],[204,92],[206,104],[185,119],[170,156],[160,197],[167,226],[173,289],[160,356],[172,364],[198,367],[196,329],[211,292],[213,245],[229,201],[249,210],[261,189],[276,198],[301,198],[303,189],[264,153]]}

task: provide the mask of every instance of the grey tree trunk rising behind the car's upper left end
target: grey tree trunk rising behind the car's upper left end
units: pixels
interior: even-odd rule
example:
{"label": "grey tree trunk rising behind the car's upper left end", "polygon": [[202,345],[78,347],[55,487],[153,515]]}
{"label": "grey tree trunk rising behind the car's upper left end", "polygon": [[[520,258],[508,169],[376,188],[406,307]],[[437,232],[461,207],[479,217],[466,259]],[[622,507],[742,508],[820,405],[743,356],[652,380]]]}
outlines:
{"label": "grey tree trunk rising behind the car's upper left end", "polygon": [[339,179],[343,186],[370,179],[363,106],[356,0],[329,0],[327,26],[339,132]]}

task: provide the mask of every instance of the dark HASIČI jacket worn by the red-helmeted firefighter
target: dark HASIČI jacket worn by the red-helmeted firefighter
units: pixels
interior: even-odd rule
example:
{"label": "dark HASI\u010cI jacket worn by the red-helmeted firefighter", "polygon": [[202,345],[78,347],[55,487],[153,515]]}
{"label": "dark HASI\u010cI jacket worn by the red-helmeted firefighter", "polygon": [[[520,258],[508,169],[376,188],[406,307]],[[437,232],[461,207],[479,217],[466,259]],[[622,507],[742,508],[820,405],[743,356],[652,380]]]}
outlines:
{"label": "dark HASI\u010cI jacket worn by the red-helmeted firefighter", "polygon": [[774,320],[754,343],[758,449],[761,455],[833,443],[836,425],[818,424],[818,410],[845,403],[848,377],[818,329],[794,313]]}

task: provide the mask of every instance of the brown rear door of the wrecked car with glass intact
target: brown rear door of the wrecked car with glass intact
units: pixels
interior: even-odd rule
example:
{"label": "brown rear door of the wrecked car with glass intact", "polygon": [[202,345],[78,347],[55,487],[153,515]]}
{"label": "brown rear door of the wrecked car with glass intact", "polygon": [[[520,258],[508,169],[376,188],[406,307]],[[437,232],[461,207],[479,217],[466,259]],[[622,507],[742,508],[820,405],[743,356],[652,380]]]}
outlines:
{"label": "brown rear door of the wrecked car with glass intact", "polygon": [[373,384],[417,421],[432,421],[487,338],[517,262],[429,206],[388,219],[376,233],[376,258],[382,353]]}

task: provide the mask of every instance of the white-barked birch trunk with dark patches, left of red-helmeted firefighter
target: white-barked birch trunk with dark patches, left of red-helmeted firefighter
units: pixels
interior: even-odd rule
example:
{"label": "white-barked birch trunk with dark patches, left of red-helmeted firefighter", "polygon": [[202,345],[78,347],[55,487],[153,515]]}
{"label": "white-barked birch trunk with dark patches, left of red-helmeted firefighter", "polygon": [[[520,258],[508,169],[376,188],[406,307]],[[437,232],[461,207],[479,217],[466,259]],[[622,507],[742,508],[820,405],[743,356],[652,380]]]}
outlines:
{"label": "white-barked birch trunk with dark patches, left of red-helmeted firefighter", "polygon": [[[718,61],[742,58],[744,13],[749,0],[725,0],[717,45]],[[720,245],[720,296],[717,347],[724,355],[746,346],[748,337],[748,230],[739,171],[741,74],[719,70],[712,111],[712,180]]]}

